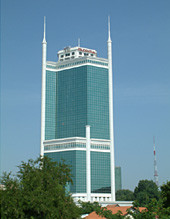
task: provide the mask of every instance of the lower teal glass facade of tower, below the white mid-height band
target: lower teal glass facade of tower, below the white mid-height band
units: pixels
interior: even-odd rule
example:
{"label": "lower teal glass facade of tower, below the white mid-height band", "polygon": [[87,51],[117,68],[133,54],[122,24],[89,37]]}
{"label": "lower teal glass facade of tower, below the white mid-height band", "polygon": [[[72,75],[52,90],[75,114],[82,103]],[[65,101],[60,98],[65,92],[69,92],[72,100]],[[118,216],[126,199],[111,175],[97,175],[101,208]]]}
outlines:
{"label": "lower teal glass facade of tower, below the white mid-height band", "polygon": [[[86,193],[86,151],[62,151],[46,153],[54,161],[64,159],[71,165],[73,184],[69,185],[72,193]],[[91,191],[92,193],[110,193],[110,153],[91,152]]]}

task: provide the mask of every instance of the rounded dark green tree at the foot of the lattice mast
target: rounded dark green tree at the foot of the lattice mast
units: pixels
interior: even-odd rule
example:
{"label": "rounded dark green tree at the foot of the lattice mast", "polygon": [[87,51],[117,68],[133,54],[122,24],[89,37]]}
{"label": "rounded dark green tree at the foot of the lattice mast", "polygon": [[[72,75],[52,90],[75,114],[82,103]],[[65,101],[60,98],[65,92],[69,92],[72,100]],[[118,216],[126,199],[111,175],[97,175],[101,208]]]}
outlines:
{"label": "rounded dark green tree at the foot of the lattice mast", "polygon": [[152,180],[140,180],[134,190],[134,197],[139,206],[146,206],[154,198],[159,200],[160,192]]}

